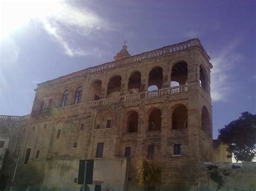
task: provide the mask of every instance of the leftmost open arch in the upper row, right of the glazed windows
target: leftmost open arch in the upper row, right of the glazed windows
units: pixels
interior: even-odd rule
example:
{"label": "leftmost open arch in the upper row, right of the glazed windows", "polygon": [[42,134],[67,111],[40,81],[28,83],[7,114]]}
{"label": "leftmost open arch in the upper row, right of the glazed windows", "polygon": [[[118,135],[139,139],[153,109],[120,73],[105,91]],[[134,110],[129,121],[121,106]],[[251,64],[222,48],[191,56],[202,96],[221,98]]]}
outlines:
{"label": "leftmost open arch in the upper row, right of the glazed windows", "polygon": [[99,79],[93,80],[89,87],[87,101],[99,100],[101,93],[102,93],[102,81]]}

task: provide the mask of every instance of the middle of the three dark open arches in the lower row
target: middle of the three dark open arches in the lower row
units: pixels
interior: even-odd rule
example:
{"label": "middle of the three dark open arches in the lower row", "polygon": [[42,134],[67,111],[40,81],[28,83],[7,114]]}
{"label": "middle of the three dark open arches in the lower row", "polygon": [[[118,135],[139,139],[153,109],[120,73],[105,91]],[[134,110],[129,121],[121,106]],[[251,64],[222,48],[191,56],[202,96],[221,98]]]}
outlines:
{"label": "middle of the three dark open arches in the lower row", "polygon": [[158,108],[153,109],[149,115],[148,131],[161,130],[161,110]]}

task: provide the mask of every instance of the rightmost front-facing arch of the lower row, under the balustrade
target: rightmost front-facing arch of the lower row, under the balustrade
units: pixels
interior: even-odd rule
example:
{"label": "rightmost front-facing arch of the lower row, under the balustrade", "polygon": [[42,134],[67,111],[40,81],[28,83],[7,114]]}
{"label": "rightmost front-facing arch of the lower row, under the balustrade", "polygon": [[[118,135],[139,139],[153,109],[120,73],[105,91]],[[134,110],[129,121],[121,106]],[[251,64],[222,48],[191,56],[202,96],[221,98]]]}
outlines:
{"label": "rightmost front-facing arch of the lower row, under the balustrade", "polygon": [[173,107],[172,129],[187,129],[187,108],[184,104],[176,104]]}

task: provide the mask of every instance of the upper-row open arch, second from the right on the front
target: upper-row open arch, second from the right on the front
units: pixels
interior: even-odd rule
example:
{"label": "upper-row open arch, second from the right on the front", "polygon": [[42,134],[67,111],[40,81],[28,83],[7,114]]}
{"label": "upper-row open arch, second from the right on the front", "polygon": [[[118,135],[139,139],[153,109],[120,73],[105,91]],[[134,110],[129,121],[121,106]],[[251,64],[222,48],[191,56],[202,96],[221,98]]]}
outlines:
{"label": "upper-row open arch, second from the right on the front", "polygon": [[153,67],[149,73],[149,84],[151,86],[157,86],[158,89],[163,87],[163,68],[160,66]]}

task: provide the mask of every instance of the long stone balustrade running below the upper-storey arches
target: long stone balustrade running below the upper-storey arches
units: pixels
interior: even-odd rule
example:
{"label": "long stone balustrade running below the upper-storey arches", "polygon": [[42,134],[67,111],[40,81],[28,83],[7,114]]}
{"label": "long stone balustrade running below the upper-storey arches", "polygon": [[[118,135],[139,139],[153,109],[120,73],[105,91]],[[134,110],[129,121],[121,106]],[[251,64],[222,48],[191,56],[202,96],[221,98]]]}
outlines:
{"label": "long stone balustrade running below the upper-storey arches", "polygon": [[[158,89],[153,91],[145,91],[139,94],[130,94],[125,96],[119,96],[119,97],[111,97],[106,98],[104,100],[96,100],[96,101],[90,101],[85,103],[79,103],[74,105],[68,105],[66,107],[62,108],[55,108],[53,109],[53,114],[62,114],[69,111],[77,111],[81,110],[83,108],[92,108],[97,107],[98,105],[109,105],[119,102],[129,102],[133,100],[139,100],[142,98],[151,98],[151,97],[159,97],[163,95],[172,95],[172,94],[181,94],[185,93],[188,90],[188,86],[176,86],[171,88],[164,88],[164,89]],[[207,94],[207,93],[205,93]],[[208,95],[208,94],[207,94]],[[206,96],[206,95],[205,95]],[[210,97],[210,96],[208,96]]]}

